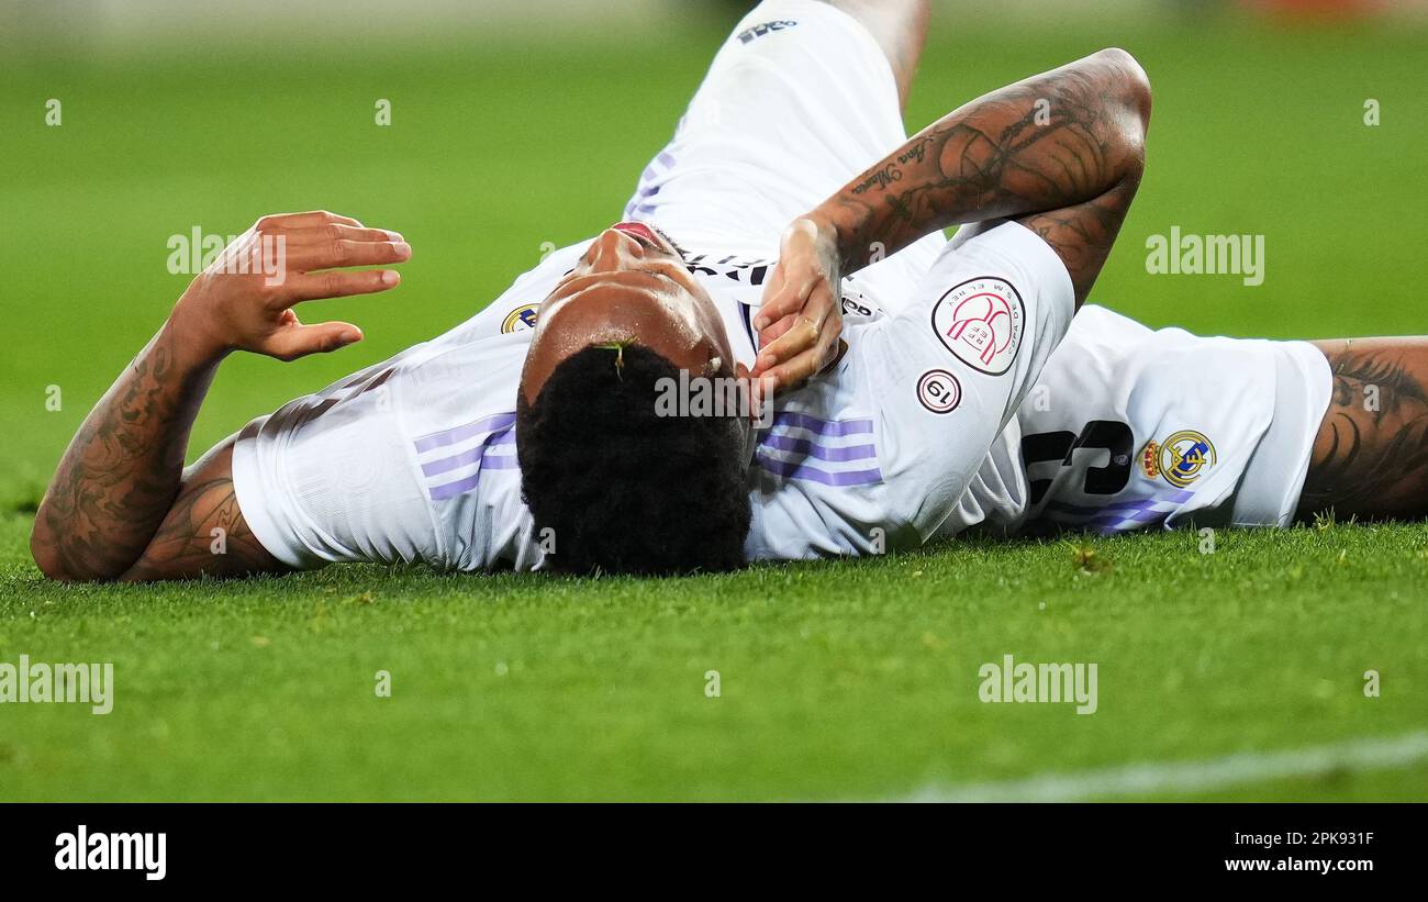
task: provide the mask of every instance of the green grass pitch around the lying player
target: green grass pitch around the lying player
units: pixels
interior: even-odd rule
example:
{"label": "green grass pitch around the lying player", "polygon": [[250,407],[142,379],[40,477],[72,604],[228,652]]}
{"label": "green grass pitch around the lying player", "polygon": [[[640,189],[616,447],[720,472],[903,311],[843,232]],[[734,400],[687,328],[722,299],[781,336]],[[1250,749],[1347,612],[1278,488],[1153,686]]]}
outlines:
{"label": "green grass pitch around the lying player", "polygon": [[[324,303],[363,344],[230,360],[196,427],[204,448],[471,315],[543,243],[617,218],[720,37],[0,61],[0,661],[116,672],[109,715],[0,706],[0,799],[897,799],[1428,726],[1417,524],[1221,532],[1208,555],[1188,532],[974,539],[671,581],[40,578],[27,537],[43,485],[186,284],[164,267],[170,234],[331,208],[416,248],[398,291]],[[1092,300],[1205,333],[1424,333],[1424,37],[944,17],[908,120],[1124,46],[1155,86],[1150,171]],[[51,97],[60,127],[44,126]],[[390,128],[373,124],[380,97]],[[1264,284],[1147,274],[1145,237],[1171,226],[1264,234]],[[1097,662],[1100,709],[981,704],[978,667],[1004,654]],[[1428,762],[1174,798],[1425,799]]]}

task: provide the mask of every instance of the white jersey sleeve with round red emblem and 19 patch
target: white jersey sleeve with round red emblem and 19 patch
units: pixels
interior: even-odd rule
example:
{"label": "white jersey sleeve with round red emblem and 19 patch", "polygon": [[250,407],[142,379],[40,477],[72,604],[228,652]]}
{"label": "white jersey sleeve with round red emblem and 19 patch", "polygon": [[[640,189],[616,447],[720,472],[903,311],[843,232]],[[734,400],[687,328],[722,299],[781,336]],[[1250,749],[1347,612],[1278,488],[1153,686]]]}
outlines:
{"label": "white jersey sleeve with round red emblem and 19 patch", "polygon": [[911,303],[860,334],[890,525],[952,515],[1075,313],[1061,258],[1012,221],[964,227]]}

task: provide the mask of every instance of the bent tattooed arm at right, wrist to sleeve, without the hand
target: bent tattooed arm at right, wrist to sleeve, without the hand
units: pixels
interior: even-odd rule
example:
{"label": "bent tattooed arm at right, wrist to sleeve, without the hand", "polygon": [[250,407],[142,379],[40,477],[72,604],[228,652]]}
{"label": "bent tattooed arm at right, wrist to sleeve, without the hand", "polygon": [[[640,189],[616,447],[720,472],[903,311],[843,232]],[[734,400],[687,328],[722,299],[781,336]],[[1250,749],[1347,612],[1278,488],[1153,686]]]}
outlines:
{"label": "bent tattooed arm at right, wrist to sleeve, without the hand", "polygon": [[850,268],[955,223],[1022,221],[1090,288],[1140,184],[1124,71],[1077,64],[1002,88],[931,126],[830,201]]}

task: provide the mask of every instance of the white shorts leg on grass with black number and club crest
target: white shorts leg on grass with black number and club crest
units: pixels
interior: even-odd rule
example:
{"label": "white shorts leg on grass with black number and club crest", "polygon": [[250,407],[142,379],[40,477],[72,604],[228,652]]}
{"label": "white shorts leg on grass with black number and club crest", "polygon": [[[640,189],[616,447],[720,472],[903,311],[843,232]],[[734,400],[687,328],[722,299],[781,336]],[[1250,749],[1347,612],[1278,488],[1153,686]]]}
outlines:
{"label": "white shorts leg on grass with black number and club crest", "polygon": [[1305,341],[1077,314],[1017,412],[1021,532],[1289,525],[1332,380]]}

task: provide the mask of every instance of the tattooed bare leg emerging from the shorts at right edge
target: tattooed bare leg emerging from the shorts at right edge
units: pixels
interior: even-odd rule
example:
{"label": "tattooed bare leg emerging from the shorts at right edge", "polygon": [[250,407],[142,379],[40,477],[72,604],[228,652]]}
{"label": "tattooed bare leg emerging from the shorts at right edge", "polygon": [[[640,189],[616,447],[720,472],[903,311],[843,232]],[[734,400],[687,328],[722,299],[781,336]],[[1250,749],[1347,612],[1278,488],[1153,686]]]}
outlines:
{"label": "tattooed bare leg emerging from the shorts at right edge", "polygon": [[1428,514],[1428,338],[1315,343],[1334,373],[1299,518]]}

